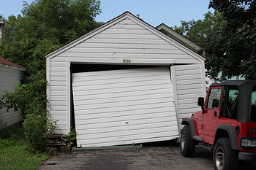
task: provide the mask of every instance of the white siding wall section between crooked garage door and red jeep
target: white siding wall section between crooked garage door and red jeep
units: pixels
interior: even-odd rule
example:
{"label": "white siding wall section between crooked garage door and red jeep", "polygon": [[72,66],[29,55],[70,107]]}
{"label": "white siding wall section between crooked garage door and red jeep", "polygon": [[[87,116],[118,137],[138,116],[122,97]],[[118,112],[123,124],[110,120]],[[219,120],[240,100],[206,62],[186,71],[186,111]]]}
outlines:
{"label": "white siding wall section between crooked garage door and red jeep", "polygon": [[[206,77],[202,64],[172,66],[172,80],[175,84],[176,112],[178,124],[184,117],[191,117],[200,110],[198,97],[206,96]],[[174,86],[174,85],[173,85]],[[181,126],[179,126],[181,128]]]}

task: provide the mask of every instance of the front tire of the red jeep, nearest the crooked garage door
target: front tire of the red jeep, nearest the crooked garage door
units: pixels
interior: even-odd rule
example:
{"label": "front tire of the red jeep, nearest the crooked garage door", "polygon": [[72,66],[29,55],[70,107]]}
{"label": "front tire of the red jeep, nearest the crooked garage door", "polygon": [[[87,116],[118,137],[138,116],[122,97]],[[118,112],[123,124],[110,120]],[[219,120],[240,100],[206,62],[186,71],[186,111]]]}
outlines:
{"label": "front tire of the red jeep, nearest the crooked garage door", "polygon": [[195,152],[195,140],[191,138],[189,125],[184,125],[181,131],[181,154],[191,157]]}

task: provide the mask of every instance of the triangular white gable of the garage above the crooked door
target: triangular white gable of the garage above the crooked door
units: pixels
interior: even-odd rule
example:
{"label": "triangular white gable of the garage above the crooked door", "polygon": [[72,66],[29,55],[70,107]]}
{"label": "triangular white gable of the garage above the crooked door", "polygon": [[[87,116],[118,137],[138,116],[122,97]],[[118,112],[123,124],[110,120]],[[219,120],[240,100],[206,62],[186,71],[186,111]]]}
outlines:
{"label": "triangular white gable of the garage above the crooked door", "polygon": [[80,62],[80,58],[84,62],[102,62],[104,58],[110,63],[124,63],[124,58],[129,58],[131,63],[184,63],[184,60],[200,63],[205,60],[129,12],[46,57],[69,57],[74,62]]}

